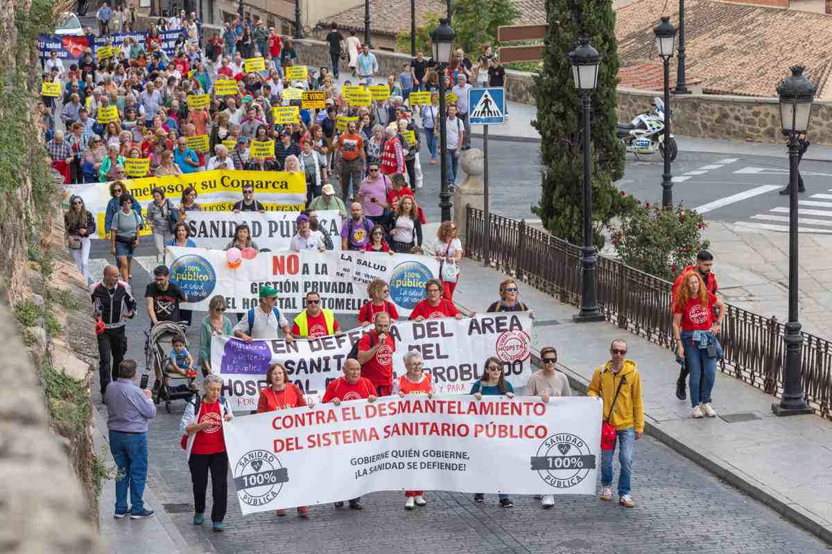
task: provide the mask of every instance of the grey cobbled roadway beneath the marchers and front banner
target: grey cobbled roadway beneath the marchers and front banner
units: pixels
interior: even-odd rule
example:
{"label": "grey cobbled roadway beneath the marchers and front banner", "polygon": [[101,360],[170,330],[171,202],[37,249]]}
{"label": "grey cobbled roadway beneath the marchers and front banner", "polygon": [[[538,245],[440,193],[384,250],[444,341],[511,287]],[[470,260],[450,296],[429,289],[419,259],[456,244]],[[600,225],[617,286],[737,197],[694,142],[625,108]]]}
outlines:
{"label": "grey cobbled roadway beneath the marchers and front banner", "polygon": [[[146,272],[136,267],[133,288],[137,297],[143,296],[148,282]],[[127,357],[140,360],[141,366],[142,331],[148,320],[143,302],[140,306],[136,321],[129,326]],[[195,326],[188,333],[192,351],[198,349],[196,323],[201,321],[201,314],[194,315]],[[341,322],[344,328],[355,324],[351,318]],[[97,402],[106,414],[100,399]],[[316,506],[304,520],[292,512],[287,517],[276,517],[274,512],[242,517],[232,491],[225,532],[213,533],[208,524],[191,525],[191,478],[178,430],[184,402],[173,403],[171,414],[164,404],[158,408],[148,441],[148,484],[166,506],[151,508],[171,512],[192,552],[828,552],[820,539],[647,436],[636,443],[634,455],[635,509],[592,497],[559,497],[547,511],[534,498],[518,497],[513,498],[515,507],[506,509],[491,495],[485,504],[476,504],[470,495],[428,492],[427,507],[405,512],[402,493],[389,492],[366,496],[363,512]],[[487,478],[483,475],[483,480]],[[210,512],[210,498],[208,506]]]}

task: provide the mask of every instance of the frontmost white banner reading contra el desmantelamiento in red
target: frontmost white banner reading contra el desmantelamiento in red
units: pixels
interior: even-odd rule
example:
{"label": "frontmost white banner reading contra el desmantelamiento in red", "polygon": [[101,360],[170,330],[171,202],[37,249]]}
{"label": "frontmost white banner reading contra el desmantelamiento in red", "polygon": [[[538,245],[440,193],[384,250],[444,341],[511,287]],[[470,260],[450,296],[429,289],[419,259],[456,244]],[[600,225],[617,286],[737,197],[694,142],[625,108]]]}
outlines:
{"label": "frontmost white banner reading contra el desmantelamiento in red", "polygon": [[409,395],[223,424],[243,514],[390,490],[594,494],[601,402]]}

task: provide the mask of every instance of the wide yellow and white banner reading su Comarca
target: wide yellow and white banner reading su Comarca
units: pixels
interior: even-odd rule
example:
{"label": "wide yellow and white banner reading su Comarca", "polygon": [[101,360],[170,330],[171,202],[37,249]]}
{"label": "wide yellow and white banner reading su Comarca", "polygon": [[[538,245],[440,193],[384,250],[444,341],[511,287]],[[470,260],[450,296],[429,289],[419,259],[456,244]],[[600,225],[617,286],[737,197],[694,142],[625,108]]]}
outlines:
{"label": "wide yellow and white banner reading su Comarca", "polygon": [[[203,211],[228,212],[231,206],[242,198],[241,189],[244,184],[254,187],[257,199],[269,211],[297,212],[306,204],[306,175],[300,171],[290,173],[213,169],[189,174],[125,179],[123,183],[126,185],[126,192],[143,206],[153,199],[151,191],[154,187],[165,189],[166,196],[171,199],[180,198],[186,187],[194,187],[199,195],[197,202]],[[106,238],[104,216],[106,205],[111,199],[109,184],[67,184],[66,194],[66,198],[69,198],[70,194],[77,194],[84,199],[87,211],[93,213],[96,218],[95,238]]]}

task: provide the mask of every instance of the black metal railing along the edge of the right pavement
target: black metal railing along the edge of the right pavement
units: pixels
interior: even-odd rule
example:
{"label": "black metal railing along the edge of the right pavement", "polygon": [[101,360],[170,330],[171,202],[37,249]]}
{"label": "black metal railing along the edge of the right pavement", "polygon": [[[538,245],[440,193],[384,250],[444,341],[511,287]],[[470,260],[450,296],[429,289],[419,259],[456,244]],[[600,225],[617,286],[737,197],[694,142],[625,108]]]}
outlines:
{"label": "black metal railing along the edge of the right pavement", "polygon": [[[581,248],[528,226],[525,221],[466,207],[465,253],[483,259],[489,238],[492,267],[519,281],[577,306],[581,297]],[[598,257],[598,303],[615,323],[661,346],[675,349],[671,315],[672,283],[653,277],[609,257]],[[785,326],[726,304],[720,340],[725,350],[717,367],[769,395],[783,392]],[[832,419],[832,342],[801,333],[800,377],[810,406]]]}

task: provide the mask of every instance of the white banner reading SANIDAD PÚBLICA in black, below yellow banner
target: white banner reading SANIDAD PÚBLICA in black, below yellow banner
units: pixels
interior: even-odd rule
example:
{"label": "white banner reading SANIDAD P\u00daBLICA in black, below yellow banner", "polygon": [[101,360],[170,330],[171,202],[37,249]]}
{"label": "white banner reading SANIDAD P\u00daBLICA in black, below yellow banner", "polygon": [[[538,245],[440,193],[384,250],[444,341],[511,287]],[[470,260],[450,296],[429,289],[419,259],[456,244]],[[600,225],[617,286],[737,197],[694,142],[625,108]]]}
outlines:
{"label": "white banner reading SANIDAD P\u00daBLICA in black, below yellow banner", "polygon": [[[332,239],[334,250],[340,250],[343,220],[338,210],[316,213],[320,227],[326,229]],[[215,250],[228,246],[237,226],[242,223],[249,226],[251,239],[257,243],[257,248],[269,248],[271,251],[289,250],[298,229],[295,224],[297,212],[188,212],[187,216],[186,223],[196,246]]]}

